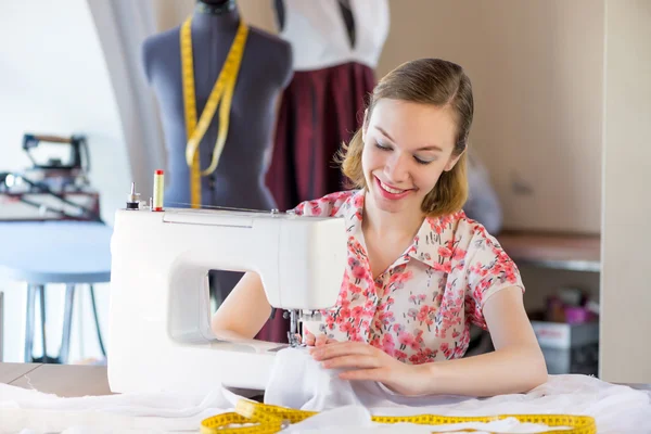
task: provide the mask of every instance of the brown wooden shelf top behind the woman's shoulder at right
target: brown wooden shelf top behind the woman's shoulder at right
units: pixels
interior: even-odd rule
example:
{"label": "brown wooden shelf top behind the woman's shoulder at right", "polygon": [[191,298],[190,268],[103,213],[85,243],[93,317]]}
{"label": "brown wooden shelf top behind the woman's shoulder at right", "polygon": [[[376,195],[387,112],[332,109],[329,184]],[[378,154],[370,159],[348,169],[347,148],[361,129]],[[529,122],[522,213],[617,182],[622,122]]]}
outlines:
{"label": "brown wooden shelf top behind the woman's shoulder at right", "polygon": [[572,271],[601,270],[599,235],[503,231],[496,238],[518,265]]}

